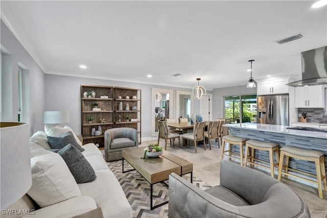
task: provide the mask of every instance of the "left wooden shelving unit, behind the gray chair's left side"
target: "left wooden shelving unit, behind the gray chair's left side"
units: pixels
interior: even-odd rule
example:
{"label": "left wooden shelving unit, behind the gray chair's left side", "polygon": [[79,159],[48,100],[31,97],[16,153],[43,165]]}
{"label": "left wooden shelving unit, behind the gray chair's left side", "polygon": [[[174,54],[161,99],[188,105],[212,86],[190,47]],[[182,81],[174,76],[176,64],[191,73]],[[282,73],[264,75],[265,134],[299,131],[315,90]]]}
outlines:
{"label": "left wooden shelving unit, behind the gray chair's left side", "polygon": [[[83,144],[95,143],[99,144],[99,149],[104,149],[104,132],[113,128],[113,99],[112,86],[98,86],[98,85],[81,85],[81,130],[83,137]],[[95,91],[95,98],[84,98],[85,91]],[[100,98],[100,96],[108,96],[108,99]],[[93,103],[98,102],[100,111],[92,111]],[[90,124],[86,117],[92,116],[94,119]],[[101,120],[105,123],[102,123]],[[102,134],[99,136],[92,136],[91,130],[95,128],[98,130],[101,126]]]}

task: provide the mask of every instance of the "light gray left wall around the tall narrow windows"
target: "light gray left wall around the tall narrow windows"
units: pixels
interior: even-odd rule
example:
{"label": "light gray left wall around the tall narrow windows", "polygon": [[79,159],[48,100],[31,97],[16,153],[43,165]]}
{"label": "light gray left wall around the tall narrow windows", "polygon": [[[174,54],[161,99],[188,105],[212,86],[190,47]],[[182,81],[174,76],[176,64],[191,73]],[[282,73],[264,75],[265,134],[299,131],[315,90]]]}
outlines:
{"label": "light gray left wall around the tall narrow windows", "polygon": [[[9,55],[4,58],[3,65],[7,67],[3,71],[2,101],[3,120],[17,121],[18,111],[18,63],[23,64],[29,70],[30,99],[29,99],[29,124],[30,134],[43,129],[44,110],[44,72],[10,32],[1,20],[1,45]],[[7,59],[7,60],[6,60]],[[3,67],[4,69],[4,67]],[[5,106],[4,106],[5,104]]]}

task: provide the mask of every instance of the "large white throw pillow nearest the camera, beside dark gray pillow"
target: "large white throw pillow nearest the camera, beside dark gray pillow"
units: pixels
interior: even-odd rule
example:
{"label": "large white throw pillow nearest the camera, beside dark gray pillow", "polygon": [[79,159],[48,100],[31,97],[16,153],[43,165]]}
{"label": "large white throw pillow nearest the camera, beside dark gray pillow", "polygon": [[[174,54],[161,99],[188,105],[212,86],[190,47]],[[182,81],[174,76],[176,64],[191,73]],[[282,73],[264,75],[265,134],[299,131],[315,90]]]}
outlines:
{"label": "large white throw pillow nearest the camera, beside dark gray pillow", "polygon": [[32,186],[28,195],[40,206],[81,196],[81,191],[65,161],[57,153],[31,158]]}

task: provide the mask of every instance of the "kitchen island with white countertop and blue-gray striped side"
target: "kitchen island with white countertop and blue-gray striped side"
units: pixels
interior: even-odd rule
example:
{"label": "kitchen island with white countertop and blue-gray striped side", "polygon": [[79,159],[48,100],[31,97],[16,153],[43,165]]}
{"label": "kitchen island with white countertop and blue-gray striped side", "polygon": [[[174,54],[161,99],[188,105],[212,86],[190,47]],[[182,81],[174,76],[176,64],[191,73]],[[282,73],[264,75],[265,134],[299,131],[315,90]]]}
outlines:
{"label": "kitchen island with white countertop and blue-gray striped side", "polygon": [[[230,135],[275,142],[279,144],[279,148],[284,146],[295,146],[302,149],[321,151],[325,154],[325,166],[327,167],[327,133],[289,130],[287,129],[288,126],[255,123],[227,124],[223,126],[229,128]],[[237,147],[233,147],[232,150],[239,152]],[[256,152],[255,158],[264,161],[269,160],[268,153],[263,151]],[[294,169],[299,169],[300,171],[316,174],[314,162],[299,161],[290,158],[289,166]],[[289,178],[292,179],[291,177]]]}

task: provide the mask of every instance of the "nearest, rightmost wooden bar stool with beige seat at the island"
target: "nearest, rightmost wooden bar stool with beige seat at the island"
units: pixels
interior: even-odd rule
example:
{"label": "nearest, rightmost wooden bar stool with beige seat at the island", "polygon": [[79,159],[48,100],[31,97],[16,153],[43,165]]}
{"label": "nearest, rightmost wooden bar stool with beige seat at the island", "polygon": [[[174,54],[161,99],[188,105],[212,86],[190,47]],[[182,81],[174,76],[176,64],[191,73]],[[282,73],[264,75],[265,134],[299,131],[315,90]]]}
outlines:
{"label": "nearest, rightmost wooden bar stool with beige seat at the island", "polygon": [[[283,165],[285,155],[285,165]],[[316,165],[316,175],[309,174],[306,172],[299,171],[297,169],[289,168],[288,161],[289,157],[300,159],[300,160],[307,160],[307,161],[314,161]],[[285,169],[285,172],[283,172]],[[288,171],[294,171],[299,174],[315,177],[317,182],[311,179],[306,179],[300,176],[296,176],[293,174],[289,174]],[[324,154],[320,151],[313,151],[308,149],[300,149],[297,147],[285,146],[281,148],[281,159],[279,159],[279,169],[278,169],[278,180],[281,180],[282,174],[285,178],[287,176],[296,177],[298,179],[305,180],[307,182],[311,182],[318,185],[318,196],[319,198],[323,199],[322,195],[322,188],[327,191],[327,181],[326,181],[326,170],[325,170],[325,161],[324,161]],[[322,181],[322,183],[321,183]]]}

